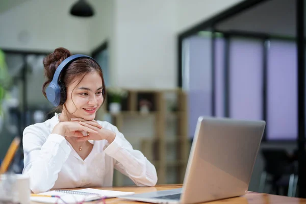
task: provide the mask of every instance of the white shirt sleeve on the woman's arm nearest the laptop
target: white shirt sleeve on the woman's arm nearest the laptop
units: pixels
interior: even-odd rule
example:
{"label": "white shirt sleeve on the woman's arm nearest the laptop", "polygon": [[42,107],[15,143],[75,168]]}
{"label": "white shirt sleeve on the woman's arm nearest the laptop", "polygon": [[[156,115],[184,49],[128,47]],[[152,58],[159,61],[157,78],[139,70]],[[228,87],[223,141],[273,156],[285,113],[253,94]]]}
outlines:
{"label": "white shirt sleeve on the woman's arm nearest the laptop", "polygon": [[116,126],[111,130],[116,133],[114,141],[105,149],[105,153],[116,160],[115,169],[129,176],[137,186],[155,186],[157,173],[141,151],[133,149]]}

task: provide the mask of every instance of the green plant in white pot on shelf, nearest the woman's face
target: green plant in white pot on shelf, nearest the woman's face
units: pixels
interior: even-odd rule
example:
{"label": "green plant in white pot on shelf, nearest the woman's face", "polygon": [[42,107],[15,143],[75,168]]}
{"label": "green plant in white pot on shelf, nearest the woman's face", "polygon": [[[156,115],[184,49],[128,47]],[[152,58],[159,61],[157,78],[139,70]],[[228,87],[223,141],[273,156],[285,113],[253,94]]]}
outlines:
{"label": "green plant in white pot on shelf, nearest the woman's face", "polygon": [[119,113],[121,111],[122,99],[127,96],[127,91],[118,87],[110,87],[107,89],[109,96],[110,113]]}

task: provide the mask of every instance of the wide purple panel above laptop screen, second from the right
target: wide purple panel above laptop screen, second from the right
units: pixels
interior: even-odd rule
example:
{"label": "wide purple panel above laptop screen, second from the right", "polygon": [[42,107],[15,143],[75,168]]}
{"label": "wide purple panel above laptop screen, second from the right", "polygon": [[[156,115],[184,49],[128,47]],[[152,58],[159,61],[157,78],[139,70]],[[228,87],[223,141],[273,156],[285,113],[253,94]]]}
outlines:
{"label": "wide purple panel above laptop screen, second from the right", "polygon": [[262,119],[262,41],[230,41],[230,117]]}

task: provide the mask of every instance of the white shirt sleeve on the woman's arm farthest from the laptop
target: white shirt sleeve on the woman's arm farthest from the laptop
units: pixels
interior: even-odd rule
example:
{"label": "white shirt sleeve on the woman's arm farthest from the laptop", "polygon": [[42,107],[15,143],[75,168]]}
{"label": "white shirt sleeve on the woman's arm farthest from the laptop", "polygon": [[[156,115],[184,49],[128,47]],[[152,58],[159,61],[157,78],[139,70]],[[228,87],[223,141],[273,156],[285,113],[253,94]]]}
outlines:
{"label": "white shirt sleeve on the woman's arm farthest from the laptop", "polygon": [[58,134],[50,134],[47,139],[34,125],[23,131],[23,174],[30,177],[30,188],[34,193],[51,189],[71,148],[66,139]]}

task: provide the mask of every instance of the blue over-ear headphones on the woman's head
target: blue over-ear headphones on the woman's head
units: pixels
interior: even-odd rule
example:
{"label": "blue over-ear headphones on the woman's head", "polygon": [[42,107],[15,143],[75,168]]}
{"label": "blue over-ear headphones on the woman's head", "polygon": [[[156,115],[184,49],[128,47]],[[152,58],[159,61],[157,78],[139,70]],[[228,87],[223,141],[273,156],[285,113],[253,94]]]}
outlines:
{"label": "blue over-ear headphones on the woman's head", "polygon": [[[47,99],[54,105],[54,106],[60,106],[63,105],[66,101],[66,87],[64,84],[61,83],[59,80],[61,71],[69,66],[69,64],[79,58],[89,58],[94,60],[93,58],[87,56],[87,55],[82,55],[82,54],[77,54],[77,55],[72,55],[68,58],[66,58],[56,69],[53,80],[50,82],[48,87],[46,88],[46,96]],[[95,60],[94,60],[95,61]],[[96,62],[96,61],[95,61]],[[97,62],[96,62],[97,63]],[[98,63],[97,63],[98,64]]]}

